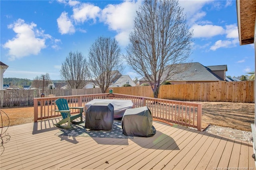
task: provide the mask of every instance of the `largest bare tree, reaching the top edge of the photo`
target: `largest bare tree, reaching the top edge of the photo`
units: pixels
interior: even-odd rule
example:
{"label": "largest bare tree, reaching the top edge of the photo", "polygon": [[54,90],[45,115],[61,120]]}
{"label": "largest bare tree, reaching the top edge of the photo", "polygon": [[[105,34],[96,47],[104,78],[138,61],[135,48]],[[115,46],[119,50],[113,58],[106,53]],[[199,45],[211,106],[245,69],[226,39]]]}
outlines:
{"label": "largest bare tree, reaching the top edge of the photo", "polygon": [[124,57],[150,83],[157,98],[161,82],[185,71],[177,64],[190,56],[192,32],[178,0],[145,0],[136,13]]}

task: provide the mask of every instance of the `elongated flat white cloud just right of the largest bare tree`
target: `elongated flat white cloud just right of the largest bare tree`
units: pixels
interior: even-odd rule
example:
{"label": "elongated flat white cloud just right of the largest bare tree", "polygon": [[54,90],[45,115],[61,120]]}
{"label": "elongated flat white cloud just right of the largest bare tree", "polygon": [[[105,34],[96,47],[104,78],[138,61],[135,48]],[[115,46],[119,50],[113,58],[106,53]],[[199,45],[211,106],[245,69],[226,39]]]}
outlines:
{"label": "elongated flat white cloud just right of the largest bare tree", "polygon": [[194,24],[190,30],[193,30],[194,38],[211,38],[213,36],[225,34],[224,28],[214,25],[200,26],[198,24]]}

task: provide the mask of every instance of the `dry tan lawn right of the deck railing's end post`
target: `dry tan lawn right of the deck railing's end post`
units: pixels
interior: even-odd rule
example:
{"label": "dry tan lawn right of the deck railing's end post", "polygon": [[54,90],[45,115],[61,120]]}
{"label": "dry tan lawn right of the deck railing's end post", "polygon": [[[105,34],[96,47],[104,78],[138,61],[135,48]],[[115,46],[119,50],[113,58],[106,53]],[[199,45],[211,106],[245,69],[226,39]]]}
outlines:
{"label": "dry tan lawn right of the deck railing's end post", "polygon": [[202,103],[202,128],[208,125],[251,131],[254,123],[254,103]]}

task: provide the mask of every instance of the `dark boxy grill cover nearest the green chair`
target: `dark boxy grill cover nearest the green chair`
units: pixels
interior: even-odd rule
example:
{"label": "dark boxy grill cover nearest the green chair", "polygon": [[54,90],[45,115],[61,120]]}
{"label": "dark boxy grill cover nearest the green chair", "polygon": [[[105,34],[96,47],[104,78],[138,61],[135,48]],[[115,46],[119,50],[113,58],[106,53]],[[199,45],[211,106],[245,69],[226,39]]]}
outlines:
{"label": "dark boxy grill cover nearest the green chair", "polygon": [[110,130],[114,123],[114,106],[111,103],[94,103],[86,110],[85,128]]}

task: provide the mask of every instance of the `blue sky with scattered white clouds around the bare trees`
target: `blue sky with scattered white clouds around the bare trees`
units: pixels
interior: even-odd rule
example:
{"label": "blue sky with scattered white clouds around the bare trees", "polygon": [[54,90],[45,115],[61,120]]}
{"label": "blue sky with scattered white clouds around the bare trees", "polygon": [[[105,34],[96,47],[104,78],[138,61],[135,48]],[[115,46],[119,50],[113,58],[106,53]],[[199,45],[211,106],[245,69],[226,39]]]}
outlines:
{"label": "blue sky with scattered white clouds around the bare trees", "polygon": [[[254,71],[254,46],[239,45],[236,1],[180,0],[194,30],[190,59],[204,66],[227,65],[226,75]],[[70,51],[87,57],[99,37],[116,38],[126,53],[136,10],[142,1],[0,0],[0,61],[4,78],[33,79],[49,73],[60,80],[60,67]],[[125,62],[124,62],[125,65]],[[129,67],[123,75],[138,76]]]}

